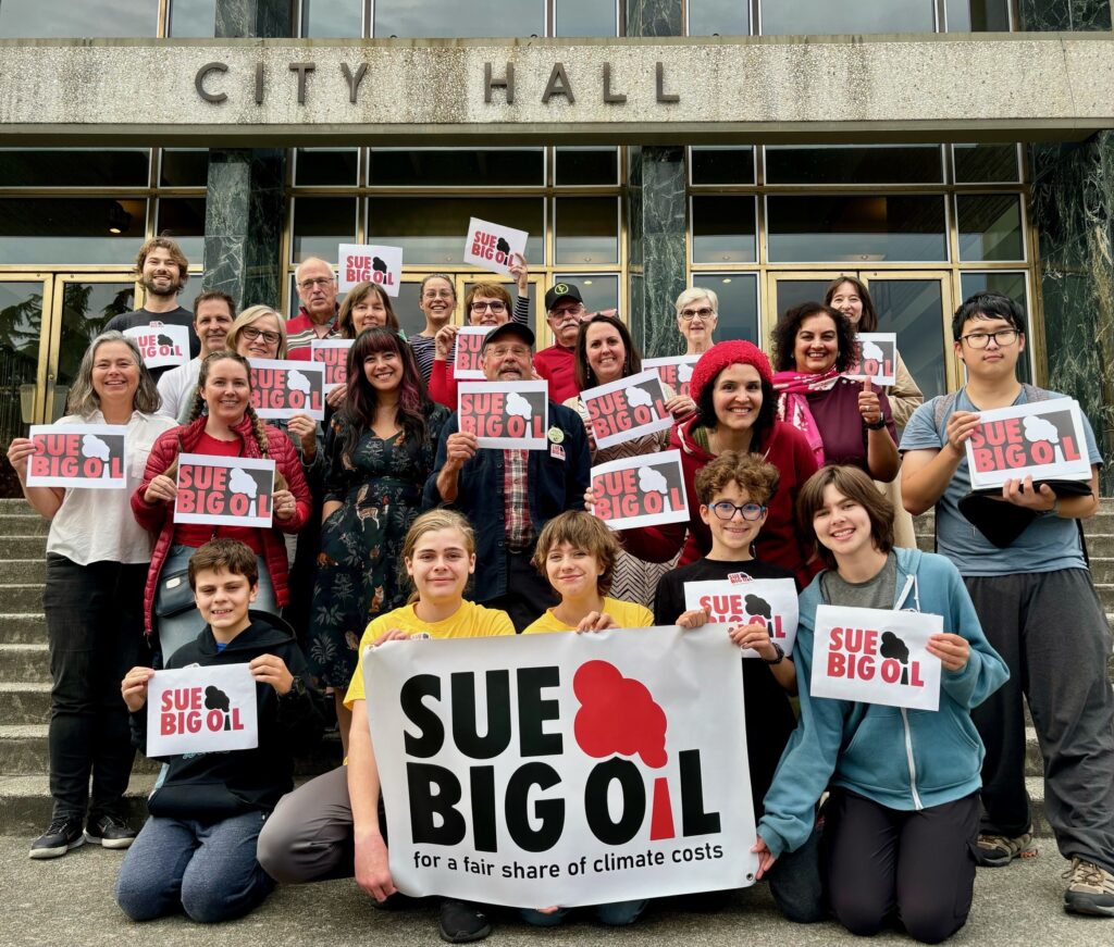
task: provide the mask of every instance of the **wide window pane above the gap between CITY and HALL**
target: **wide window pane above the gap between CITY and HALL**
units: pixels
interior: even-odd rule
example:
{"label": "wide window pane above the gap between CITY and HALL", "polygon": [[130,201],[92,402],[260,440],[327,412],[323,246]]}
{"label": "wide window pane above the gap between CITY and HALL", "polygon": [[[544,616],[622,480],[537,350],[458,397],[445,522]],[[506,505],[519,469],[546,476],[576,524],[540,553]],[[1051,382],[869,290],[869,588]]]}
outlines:
{"label": "wide window pane above the gap between CITY and HALL", "polygon": [[375,0],[375,37],[541,37],[545,0]]}

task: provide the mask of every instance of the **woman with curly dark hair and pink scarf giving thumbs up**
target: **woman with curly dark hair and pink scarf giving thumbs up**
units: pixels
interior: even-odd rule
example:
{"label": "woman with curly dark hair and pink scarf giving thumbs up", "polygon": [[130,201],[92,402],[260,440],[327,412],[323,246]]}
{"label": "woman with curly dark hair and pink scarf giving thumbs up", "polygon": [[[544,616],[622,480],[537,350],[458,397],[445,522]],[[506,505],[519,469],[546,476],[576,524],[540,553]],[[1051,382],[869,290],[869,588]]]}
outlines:
{"label": "woman with curly dark hair and pink scarf giving thumbs up", "polygon": [[882,391],[843,377],[856,354],[842,313],[820,303],[786,312],[773,329],[778,417],[804,434],[818,466],[850,464],[888,483],[901,465],[897,428]]}

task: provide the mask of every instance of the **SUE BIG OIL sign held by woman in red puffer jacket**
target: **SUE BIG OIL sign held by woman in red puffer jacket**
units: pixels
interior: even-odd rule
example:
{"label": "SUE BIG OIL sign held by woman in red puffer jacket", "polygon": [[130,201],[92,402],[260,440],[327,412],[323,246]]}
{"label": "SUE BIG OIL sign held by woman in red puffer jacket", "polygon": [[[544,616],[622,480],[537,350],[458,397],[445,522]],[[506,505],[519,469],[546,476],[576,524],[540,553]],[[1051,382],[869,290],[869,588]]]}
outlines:
{"label": "SUE BIG OIL sign held by woman in red puffer jacket", "polygon": [[179,454],[174,522],[270,527],[274,477],[271,460]]}

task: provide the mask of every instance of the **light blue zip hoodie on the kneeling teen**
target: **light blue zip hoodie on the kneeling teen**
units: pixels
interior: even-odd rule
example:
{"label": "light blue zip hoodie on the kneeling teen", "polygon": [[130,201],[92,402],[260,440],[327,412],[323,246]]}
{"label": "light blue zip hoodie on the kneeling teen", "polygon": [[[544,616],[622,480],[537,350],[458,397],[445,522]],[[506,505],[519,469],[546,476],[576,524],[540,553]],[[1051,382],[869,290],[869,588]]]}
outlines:
{"label": "light blue zip hoodie on the kneeling teen", "polygon": [[940,709],[907,710],[877,703],[811,698],[817,606],[829,602],[821,573],[801,593],[793,647],[801,720],[790,737],[759,822],[775,856],[800,848],[812,831],[820,795],[840,786],[889,809],[925,809],[961,799],[980,786],[983,741],[970,710],[1009,678],[983,634],[958,570],[942,555],[897,549],[895,609],[944,616],[944,630],[970,643],[959,671],[940,674]]}

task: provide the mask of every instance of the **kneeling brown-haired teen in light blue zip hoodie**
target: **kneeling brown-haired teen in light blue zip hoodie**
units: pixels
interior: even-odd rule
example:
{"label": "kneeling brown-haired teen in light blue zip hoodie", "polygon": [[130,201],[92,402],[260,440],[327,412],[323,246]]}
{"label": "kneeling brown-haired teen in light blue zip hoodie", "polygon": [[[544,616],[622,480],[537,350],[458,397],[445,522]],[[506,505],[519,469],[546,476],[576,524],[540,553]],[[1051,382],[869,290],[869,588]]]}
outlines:
{"label": "kneeling brown-haired teen in light blue zip hoodie", "polygon": [[[823,867],[836,918],[869,936],[896,917],[912,937],[936,944],[966,923],[975,882],[984,749],[970,710],[1009,672],[951,562],[893,549],[893,506],[864,473],[821,468],[801,490],[797,513],[834,568],[801,594],[793,650],[801,719],[764,800],[759,877],[809,839],[828,789]],[[812,698],[820,604],[942,615],[948,631],[928,645],[942,665],[939,710]]]}

